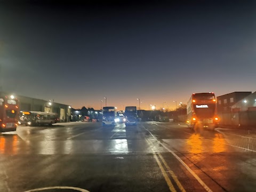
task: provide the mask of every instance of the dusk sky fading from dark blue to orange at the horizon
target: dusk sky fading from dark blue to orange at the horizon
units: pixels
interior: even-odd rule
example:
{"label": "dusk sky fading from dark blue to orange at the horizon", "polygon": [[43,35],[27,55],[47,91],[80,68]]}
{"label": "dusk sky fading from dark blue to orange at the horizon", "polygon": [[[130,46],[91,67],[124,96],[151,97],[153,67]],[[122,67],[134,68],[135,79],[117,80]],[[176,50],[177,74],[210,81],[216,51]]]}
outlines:
{"label": "dusk sky fading from dark blue to orange at the horizon", "polygon": [[95,109],[256,91],[255,1],[71,2],[1,1],[3,90]]}

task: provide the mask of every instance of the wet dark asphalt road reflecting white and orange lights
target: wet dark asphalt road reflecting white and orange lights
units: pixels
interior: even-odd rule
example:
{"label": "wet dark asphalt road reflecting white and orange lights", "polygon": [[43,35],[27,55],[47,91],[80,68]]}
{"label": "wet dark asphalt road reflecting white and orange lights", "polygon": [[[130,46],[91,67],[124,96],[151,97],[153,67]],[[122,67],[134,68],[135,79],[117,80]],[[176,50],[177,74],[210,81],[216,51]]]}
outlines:
{"label": "wet dark asphalt road reflecting white and orange lights", "polygon": [[255,191],[255,181],[253,130],[71,122],[0,135],[3,192]]}

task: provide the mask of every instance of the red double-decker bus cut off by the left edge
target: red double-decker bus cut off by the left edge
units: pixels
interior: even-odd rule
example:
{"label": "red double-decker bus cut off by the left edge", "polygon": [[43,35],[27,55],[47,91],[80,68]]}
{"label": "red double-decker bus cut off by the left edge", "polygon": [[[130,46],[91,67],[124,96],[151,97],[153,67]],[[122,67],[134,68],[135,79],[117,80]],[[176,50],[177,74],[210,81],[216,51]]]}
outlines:
{"label": "red double-decker bus cut off by the left edge", "polygon": [[0,95],[0,132],[16,131],[19,105],[13,95]]}

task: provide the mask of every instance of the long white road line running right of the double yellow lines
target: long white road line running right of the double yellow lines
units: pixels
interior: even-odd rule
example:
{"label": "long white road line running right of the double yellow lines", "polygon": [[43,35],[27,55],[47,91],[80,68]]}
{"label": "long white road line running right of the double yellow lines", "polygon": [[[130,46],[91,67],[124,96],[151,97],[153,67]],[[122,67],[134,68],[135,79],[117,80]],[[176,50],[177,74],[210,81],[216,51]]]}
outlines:
{"label": "long white road line running right of the double yellow lines", "polygon": [[[143,125],[142,125],[142,126],[143,126]],[[145,126],[143,126],[143,128],[144,128],[146,131],[148,131],[148,130],[145,128]],[[177,158],[177,160],[178,160],[183,166],[185,166],[185,168],[191,173],[191,175],[194,176],[194,178],[196,178],[196,180],[204,187],[204,189],[205,189],[206,191],[212,192],[212,190],[204,183],[204,181],[202,181],[202,179],[200,179],[200,178],[198,177],[198,175],[197,175],[194,171],[192,171],[192,170],[190,169],[190,167],[189,167],[185,162],[183,162],[182,159],[181,159],[178,155],[176,155],[171,149],[169,149],[168,147],[166,147],[163,143],[161,143],[160,141],[158,141],[157,138],[156,138],[150,131],[148,131],[148,132],[152,135],[152,137],[153,137],[154,139],[156,139],[156,141],[157,141],[160,145],[162,145],[162,146],[163,146],[167,151],[169,151],[175,158]]]}

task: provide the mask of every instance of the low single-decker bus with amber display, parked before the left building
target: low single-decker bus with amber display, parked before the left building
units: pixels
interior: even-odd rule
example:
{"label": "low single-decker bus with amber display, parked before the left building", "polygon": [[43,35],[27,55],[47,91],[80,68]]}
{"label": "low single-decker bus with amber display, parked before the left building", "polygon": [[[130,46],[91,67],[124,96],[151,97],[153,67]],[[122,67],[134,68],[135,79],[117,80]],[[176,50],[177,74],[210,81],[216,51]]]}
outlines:
{"label": "low single-decker bus with amber display, parked before the left building", "polygon": [[52,125],[57,123],[57,114],[41,111],[20,111],[19,124],[26,126]]}

